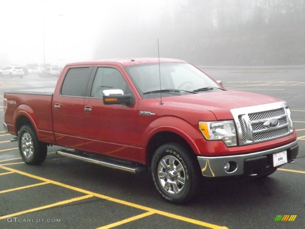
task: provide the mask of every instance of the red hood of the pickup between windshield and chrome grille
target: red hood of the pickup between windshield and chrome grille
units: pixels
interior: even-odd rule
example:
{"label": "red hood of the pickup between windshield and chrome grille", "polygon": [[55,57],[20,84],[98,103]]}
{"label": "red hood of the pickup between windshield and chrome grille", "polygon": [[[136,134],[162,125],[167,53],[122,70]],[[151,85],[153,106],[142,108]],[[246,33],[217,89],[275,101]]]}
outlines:
{"label": "red hood of the pickup between windshield and chrome grille", "polygon": [[271,96],[243,91],[219,91],[163,97],[168,105],[192,107],[213,112],[217,120],[233,119],[231,109],[282,101]]}

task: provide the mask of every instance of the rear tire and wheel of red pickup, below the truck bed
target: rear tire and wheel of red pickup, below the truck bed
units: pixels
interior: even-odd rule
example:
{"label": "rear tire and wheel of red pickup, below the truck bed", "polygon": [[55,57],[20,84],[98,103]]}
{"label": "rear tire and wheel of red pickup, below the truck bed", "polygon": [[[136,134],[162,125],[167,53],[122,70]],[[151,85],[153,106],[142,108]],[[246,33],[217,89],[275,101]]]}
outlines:
{"label": "rear tire and wheel of red pickup, below the truck bed", "polygon": [[20,156],[28,165],[39,165],[47,156],[47,144],[38,141],[31,125],[23,125],[19,130],[18,147]]}

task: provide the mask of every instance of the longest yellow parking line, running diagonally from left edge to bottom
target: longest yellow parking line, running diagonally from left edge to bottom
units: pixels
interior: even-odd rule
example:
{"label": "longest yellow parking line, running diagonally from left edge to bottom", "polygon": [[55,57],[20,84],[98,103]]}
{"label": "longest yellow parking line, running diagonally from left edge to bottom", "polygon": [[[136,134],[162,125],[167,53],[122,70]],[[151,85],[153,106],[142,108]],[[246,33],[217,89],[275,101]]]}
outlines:
{"label": "longest yellow parking line, running diagonally from left edge to bottom", "polygon": [[[54,180],[49,180],[49,179],[46,179],[46,178],[43,178],[43,177],[40,177],[40,176],[35,176],[35,175],[30,174],[30,173],[25,173],[25,172],[22,172],[22,171],[19,171],[19,170],[16,170],[16,169],[12,169],[12,168],[9,168],[9,167],[5,167],[5,166],[2,166],[2,165],[0,165],[0,168],[8,170],[8,171],[15,172],[15,173],[19,173],[19,174],[24,175],[24,176],[29,176],[29,177],[37,179],[37,180],[42,180],[42,181],[45,181],[45,182],[49,182],[51,184],[55,184],[55,185],[58,185],[58,186],[61,186],[61,187],[65,187],[65,188],[68,188],[68,189],[71,189],[71,190],[74,190],[74,191],[78,191],[78,192],[81,192],[81,193],[84,193],[84,194],[92,195],[92,196],[95,196],[95,197],[98,197],[98,198],[101,198],[101,199],[105,199],[105,200],[112,201],[112,202],[115,202],[115,203],[127,205],[129,207],[134,207],[134,208],[137,208],[137,209],[142,209],[142,210],[147,211],[147,212],[155,212],[156,214],[159,214],[159,215],[162,215],[162,216],[167,216],[167,217],[170,217],[170,218],[182,220],[182,221],[189,222],[189,223],[192,223],[192,224],[197,224],[197,225],[201,225],[201,226],[204,226],[204,227],[215,228],[215,229],[216,228],[217,229],[226,229],[227,228],[227,227],[221,227],[221,226],[218,226],[218,225],[215,225],[215,224],[209,224],[209,223],[199,221],[199,220],[193,220],[191,218],[187,218],[187,217],[183,217],[183,216],[174,215],[174,214],[171,214],[171,213],[167,213],[167,212],[163,212],[163,211],[156,210],[156,209],[153,209],[153,208],[149,208],[149,207],[145,207],[145,206],[142,206],[142,205],[134,204],[134,203],[127,202],[127,201],[124,201],[124,200],[112,198],[112,197],[105,196],[105,195],[102,195],[102,194],[98,194],[98,193],[95,193],[95,192],[87,191],[87,190],[84,190],[84,189],[81,189],[81,188],[77,188],[77,187],[74,187],[74,186],[63,184],[63,183],[60,183],[60,182],[57,182],[57,181],[54,181]],[[2,216],[2,217],[7,218],[7,217],[11,217],[11,216]],[[0,220],[2,219],[2,217],[0,217]]]}

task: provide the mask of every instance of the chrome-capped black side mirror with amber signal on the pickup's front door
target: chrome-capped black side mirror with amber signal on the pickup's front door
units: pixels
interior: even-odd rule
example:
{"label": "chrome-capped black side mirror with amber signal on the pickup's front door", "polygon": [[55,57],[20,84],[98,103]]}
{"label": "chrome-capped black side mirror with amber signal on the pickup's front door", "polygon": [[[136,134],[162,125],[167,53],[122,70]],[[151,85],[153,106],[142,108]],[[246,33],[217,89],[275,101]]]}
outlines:
{"label": "chrome-capped black side mirror with amber signal on the pickup's front door", "polygon": [[132,106],[135,104],[135,98],[131,94],[124,95],[120,89],[104,90],[103,103],[105,105],[127,105]]}

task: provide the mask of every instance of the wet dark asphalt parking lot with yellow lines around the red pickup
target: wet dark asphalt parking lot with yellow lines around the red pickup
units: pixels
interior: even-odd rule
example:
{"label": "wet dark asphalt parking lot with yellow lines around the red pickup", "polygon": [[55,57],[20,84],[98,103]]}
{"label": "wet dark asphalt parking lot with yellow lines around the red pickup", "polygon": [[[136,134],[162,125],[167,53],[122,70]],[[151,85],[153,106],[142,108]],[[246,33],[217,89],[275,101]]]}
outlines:
{"label": "wet dark asphalt parking lot with yellow lines around the red pickup", "polygon": [[[215,68],[204,71],[230,90],[281,98],[292,111],[299,155],[264,179],[202,179],[193,202],[167,203],[149,174],[135,175],[65,158],[23,163],[0,127],[0,228],[304,228],[305,68]],[[3,92],[51,88],[57,78],[0,78]],[[293,216],[294,221],[275,221]]]}

